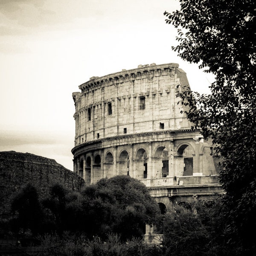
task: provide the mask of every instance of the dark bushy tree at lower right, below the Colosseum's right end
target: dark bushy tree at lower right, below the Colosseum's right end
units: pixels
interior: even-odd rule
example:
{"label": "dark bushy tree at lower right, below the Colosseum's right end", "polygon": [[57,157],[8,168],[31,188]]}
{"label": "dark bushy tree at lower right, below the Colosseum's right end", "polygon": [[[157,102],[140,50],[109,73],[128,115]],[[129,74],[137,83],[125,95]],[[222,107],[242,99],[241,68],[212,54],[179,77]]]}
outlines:
{"label": "dark bushy tree at lower right, below the Colosseum's right end", "polygon": [[163,220],[163,247],[165,255],[228,256],[237,254],[236,247],[227,246],[226,219],[221,200],[209,205],[197,201],[177,205]]}

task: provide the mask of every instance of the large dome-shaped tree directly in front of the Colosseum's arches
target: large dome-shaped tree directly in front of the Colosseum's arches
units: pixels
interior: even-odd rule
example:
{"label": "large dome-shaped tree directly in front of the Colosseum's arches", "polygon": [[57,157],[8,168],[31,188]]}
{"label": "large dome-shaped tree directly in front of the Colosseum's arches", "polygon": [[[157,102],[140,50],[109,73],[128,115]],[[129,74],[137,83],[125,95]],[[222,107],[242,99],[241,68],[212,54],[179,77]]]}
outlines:
{"label": "large dome-shaped tree directly in front of the Colosseum's arches", "polygon": [[115,221],[111,231],[121,235],[122,241],[142,237],[145,224],[154,224],[159,207],[139,180],[126,175],[101,179],[96,183],[99,192],[107,190],[116,199]]}

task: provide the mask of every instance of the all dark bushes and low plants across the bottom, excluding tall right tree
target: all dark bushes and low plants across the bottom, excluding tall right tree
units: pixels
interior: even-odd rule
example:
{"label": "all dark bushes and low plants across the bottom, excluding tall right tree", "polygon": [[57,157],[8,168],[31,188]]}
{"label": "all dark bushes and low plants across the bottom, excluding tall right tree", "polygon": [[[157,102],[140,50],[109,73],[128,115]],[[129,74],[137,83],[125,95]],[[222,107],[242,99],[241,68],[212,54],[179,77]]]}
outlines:
{"label": "all dark bushes and low plants across the bottom, excluding tall right tree", "polygon": [[[158,206],[144,189],[138,180],[117,176],[88,186],[79,196],[53,186],[51,198],[40,202],[35,188],[28,185],[13,202],[12,227],[23,231],[19,238],[30,235],[30,241],[38,241],[42,256],[244,255],[239,245],[228,243],[221,200],[176,206],[156,223]],[[137,196],[130,197],[131,191]],[[145,219],[160,225],[163,244],[145,243]]]}

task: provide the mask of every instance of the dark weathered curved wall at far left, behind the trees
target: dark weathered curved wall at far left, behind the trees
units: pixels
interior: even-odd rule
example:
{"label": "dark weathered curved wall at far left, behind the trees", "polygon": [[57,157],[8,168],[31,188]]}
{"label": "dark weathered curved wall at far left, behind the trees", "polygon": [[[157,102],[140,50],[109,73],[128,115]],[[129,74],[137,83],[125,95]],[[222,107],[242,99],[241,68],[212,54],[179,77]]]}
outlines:
{"label": "dark weathered curved wall at far left, behind the trees", "polygon": [[72,190],[79,190],[84,185],[79,175],[53,159],[15,151],[0,152],[0,181],[2,216],[8,214],[12,198],[28,183],[38,189],[41,197],[46,196],[55,183]]}

